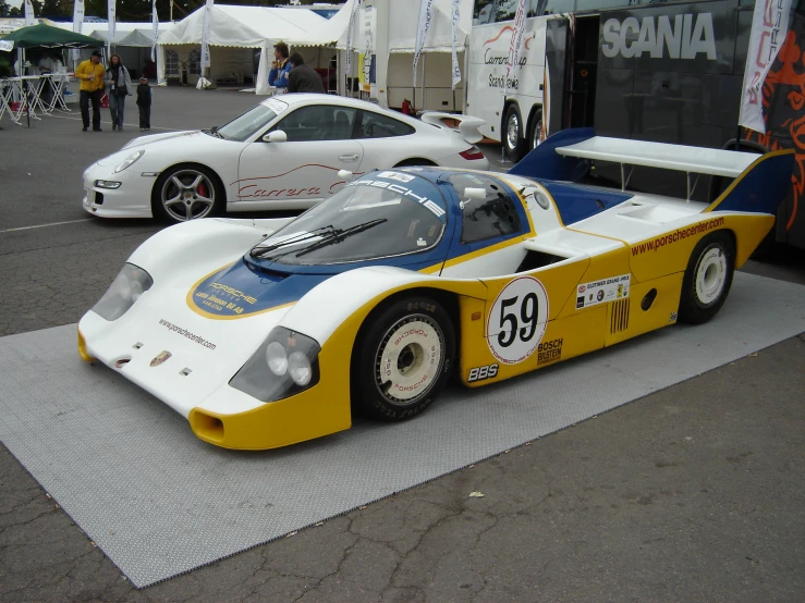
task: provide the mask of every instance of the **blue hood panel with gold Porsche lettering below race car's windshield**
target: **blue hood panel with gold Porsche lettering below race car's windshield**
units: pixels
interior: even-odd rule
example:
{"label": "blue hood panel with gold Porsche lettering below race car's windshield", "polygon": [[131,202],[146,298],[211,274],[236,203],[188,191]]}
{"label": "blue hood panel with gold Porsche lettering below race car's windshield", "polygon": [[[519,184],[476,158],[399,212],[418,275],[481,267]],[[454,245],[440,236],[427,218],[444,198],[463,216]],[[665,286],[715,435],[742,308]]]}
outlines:
{"label": "blue hood panel with gold Porsche lettering below race car's windshield", "polygon": [[187,296],[209,318],[239,318],[297,302],[331,274],[284,274],[252,270],[243,259],[205,276]]}

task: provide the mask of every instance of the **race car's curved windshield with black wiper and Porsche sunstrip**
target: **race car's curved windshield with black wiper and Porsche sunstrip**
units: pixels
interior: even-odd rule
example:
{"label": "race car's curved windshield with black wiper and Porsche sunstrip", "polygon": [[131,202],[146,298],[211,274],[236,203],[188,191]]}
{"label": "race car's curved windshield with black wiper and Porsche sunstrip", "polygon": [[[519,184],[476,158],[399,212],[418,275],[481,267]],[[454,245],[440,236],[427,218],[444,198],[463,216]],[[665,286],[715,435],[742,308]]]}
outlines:
{"label": "race car's curved windshield with black wiper and Porsche sunstrip", "polygon": [[436,246],[446,224],[436,185],[410,173],[374,172],[277,231],[251,256],[310,266],[416,254]]}

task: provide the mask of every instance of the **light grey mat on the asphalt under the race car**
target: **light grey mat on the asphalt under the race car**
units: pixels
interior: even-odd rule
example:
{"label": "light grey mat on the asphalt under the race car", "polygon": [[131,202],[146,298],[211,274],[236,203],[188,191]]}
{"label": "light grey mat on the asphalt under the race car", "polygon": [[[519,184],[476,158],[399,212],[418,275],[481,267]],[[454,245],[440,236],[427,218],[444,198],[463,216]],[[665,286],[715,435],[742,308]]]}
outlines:
{"label": "light grey mat on the asphalt under the race car", "polygon": [[480,390],[400,424],[263,453],[198,441],[75,325],[0,337],[0,439],[137,587],[460,469],[805,331],[805,287],[736,274],[721,312]]}

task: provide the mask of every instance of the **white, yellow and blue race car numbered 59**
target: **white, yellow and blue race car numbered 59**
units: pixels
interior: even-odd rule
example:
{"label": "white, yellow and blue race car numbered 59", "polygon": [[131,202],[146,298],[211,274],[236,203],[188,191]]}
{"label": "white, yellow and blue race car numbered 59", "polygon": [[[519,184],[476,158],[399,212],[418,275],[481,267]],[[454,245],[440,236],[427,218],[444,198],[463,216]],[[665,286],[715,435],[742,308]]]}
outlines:
{"label": "white, yellow and blue race car numbered 59", "polygon": [[[734,180],[709,205],[573,184],[594,161]],[[792,161],[570,130],[505,174],[375,171],[296,219],[154,235],[82,318],[78,349],[219,446],[318,438],[353,409],[406,419],[453,373],[487,385],[710,319]]]}

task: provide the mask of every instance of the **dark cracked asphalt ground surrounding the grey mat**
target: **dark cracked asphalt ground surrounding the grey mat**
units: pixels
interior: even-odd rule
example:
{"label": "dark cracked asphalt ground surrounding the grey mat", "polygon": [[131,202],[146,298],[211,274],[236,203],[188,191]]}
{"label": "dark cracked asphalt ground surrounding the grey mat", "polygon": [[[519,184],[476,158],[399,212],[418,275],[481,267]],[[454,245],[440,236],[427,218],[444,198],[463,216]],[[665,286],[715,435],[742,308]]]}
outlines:
{"label": "dark cracked asphalt ground surrounding the grey mat", "polygon": [[[160,88],[153,125],[220,124],[254,100]],[[77,321],[160,227],[84,213],[83,169],[137,133],[76,118],[0,122],[0,335]],[[747,270],[805,284],[804,264]],[[802,601],[804,386],[801,334],[141,591],[0,446],[0,601]]]}

